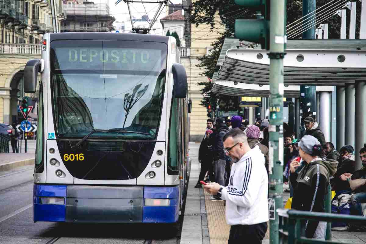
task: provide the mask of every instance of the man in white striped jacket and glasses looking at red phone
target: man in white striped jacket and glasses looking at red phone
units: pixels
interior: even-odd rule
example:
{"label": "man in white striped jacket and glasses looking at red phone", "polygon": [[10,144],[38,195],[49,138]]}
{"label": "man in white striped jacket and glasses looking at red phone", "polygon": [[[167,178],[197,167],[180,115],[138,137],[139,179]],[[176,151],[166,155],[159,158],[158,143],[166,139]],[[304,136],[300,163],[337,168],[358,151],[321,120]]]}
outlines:
{"label": "man in white striped jacket and glasses looking at red phone", "polygon": [[213,195],[226,200],[226,222],[231,225],[228,244],[262,243],[268,221],[268,176],[264,155],[258,146],[250,149],[246,135],[231,129],[223,138],[225,154],[234,162],[229,185],[205,185]]}

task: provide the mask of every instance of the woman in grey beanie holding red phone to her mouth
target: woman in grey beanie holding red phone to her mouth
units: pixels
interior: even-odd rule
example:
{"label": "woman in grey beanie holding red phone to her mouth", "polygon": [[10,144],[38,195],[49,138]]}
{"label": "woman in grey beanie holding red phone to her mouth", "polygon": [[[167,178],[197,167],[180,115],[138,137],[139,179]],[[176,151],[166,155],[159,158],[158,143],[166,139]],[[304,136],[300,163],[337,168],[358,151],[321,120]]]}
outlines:
{"label": "woman in grey beanie holding red phone to her mouth", "polygon": [[[300,166],[299,162],[294,160],[290,164],[290,181],[294,187],[291,208],[324,213],[324,197],[329,178],[336,172],[338,162],[321,158],[322,147],[314,136],[303,136],[298,146],[302,163],[306,166],[296,173],[296,168]],[[304,222],[307,238],[325,240],[326,222],[309,220]]]}

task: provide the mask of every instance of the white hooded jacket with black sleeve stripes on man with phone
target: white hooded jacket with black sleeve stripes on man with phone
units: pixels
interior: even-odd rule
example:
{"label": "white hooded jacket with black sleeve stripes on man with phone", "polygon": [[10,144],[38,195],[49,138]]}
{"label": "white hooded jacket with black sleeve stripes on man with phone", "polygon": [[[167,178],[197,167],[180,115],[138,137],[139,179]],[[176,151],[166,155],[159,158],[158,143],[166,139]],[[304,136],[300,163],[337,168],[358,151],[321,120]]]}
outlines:
{"label": "white hooded jacket with black sleeve stripes on man with phone", "polygon": [[268,221],[268,176],[264,155],[255,146],[232,165],[229,185],[221,190],[226,200],[228,225],[254,225]]}

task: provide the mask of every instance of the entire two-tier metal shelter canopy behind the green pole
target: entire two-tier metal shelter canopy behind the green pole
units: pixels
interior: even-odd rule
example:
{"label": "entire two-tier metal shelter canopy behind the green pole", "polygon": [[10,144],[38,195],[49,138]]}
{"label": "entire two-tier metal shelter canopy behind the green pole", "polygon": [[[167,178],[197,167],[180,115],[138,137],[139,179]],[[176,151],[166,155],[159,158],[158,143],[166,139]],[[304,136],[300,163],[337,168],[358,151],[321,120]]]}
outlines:
{"label": "entire two-tier metal shelter canopy behind the green pole", "polygon": [[[246,48],[245,44],[250,42],[241,43],[244,46],[240,45],[238,38],[225,38],[213,74],[212,91],[234,96],[268,97],[269,51]],[[288,87],[284,87],[284,96],[298,97],[299,85],[317,85],[317,91],[333,91],[333,87],[328,86],[365,80],[366,51],[362,49],[366,49],[365,39],[288,40],[284,58],[284,85]]]}

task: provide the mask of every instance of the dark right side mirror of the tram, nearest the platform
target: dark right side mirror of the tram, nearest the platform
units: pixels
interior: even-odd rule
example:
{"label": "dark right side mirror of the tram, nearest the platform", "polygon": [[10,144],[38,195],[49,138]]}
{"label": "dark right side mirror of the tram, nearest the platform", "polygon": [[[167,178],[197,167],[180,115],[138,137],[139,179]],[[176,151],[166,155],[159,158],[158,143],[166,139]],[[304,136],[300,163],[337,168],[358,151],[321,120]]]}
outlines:
{"label": "dark right side mirror of the tram, nearest the platform", "polygon": [[182,64],[175,63],[172,67],[173,72],[173,93],[175,98],[187,97],[187,73]]}

